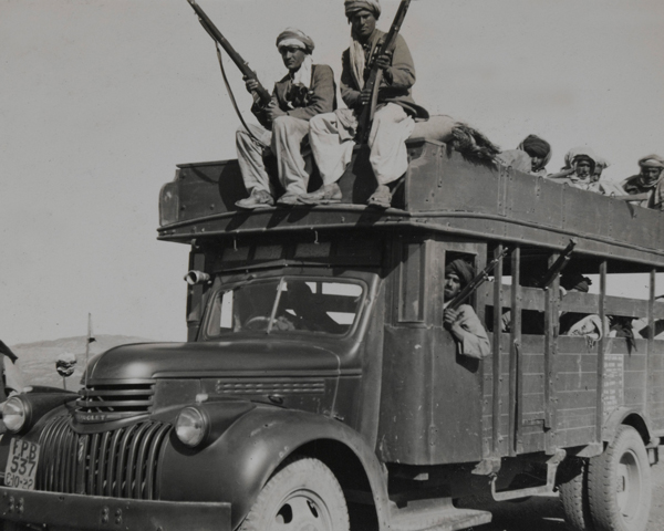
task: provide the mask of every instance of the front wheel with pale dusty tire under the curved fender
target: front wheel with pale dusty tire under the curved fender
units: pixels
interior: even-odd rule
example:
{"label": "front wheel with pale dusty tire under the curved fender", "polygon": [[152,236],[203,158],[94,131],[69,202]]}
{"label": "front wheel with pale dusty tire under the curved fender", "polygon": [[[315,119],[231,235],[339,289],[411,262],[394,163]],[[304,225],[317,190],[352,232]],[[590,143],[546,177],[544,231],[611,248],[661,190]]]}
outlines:
{"label": "front wheel with pale dusty tire under the curved fender", "polygon": [[305,524],[312,531],[349,531],[349,510],[332,471],[318,459],[297,457],[266,483],[239,530],[288,531]]}

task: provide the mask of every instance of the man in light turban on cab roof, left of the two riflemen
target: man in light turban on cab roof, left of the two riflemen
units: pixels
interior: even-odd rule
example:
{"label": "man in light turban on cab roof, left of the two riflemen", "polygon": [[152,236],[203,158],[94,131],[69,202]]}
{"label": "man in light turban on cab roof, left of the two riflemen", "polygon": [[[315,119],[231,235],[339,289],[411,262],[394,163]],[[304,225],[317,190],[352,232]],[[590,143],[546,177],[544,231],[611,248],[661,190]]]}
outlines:
{"label": "man in light turban on cab roof, left of the two riflemen", "polygon": [[262,107],[256,90],[258,82],[247,80],[247,90],[255,94],[251,112],[260,125],[248,124],[236,134],[238,163],[248,198],[236,202],[239,208],[255,209],[274,205],[264,156],[277,158],[279,181],[286,189],[279,205],[292,206],[307,194],[309,174],[304,169],[303,147],[308,146],[309,121],[336,108],[334,73],[326,64],[313,64],[314,44],[300,30],[287,29],[277,38],[288,75],[274,84],[272,100]]}

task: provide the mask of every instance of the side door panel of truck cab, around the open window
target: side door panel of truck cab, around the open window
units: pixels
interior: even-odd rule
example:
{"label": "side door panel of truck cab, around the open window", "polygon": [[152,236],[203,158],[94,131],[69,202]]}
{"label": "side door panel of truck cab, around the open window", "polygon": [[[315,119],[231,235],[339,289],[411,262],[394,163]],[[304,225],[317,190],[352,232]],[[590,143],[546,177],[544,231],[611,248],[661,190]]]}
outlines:
{"label": "side door panel of truck cab, around the open window", "polygon": [[481,459],[483,362],[457,353],[443,326],[443,298],[446,254],[484,267],[484,253],[481,243],[416,237],[395,242],[377,441],[385,461]]}

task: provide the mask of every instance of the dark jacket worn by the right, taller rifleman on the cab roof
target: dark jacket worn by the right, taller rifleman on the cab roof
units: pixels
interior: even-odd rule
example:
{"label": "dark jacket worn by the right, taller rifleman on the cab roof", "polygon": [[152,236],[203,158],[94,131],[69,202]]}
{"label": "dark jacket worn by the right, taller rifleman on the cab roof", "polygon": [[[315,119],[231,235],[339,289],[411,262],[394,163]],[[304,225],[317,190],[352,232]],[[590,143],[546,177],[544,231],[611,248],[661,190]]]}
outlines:
{"label": "dark jacket worn by the right, taller rifleman on the cab roof", "polygon": [[[375,30],[369,39],[370,51],[367,53],[366,64],[371,64],[372,58],[377,53],[377,45],[385,32]],[[351,67],[351,51],[345,50],[341,56],[341,97],[349,108],[361,111],[360,87],[353,77]],[[364,81],[369,79],[370,69],[364,71]],[[413,117],[428,118],[428,113],[424,107],[415,103],[411,95],[411,87],[415,84],[415,65],[408,45],[402,35],[397,35],[394,52],[392,54],[392,66],[385,71],[383,81],[378,88],[378,104],[396,103],[404,107],[406,113]]]}

